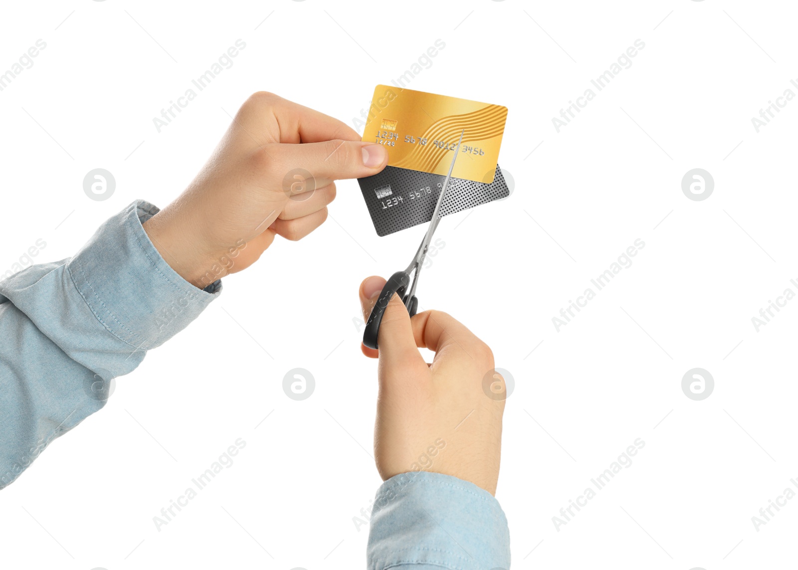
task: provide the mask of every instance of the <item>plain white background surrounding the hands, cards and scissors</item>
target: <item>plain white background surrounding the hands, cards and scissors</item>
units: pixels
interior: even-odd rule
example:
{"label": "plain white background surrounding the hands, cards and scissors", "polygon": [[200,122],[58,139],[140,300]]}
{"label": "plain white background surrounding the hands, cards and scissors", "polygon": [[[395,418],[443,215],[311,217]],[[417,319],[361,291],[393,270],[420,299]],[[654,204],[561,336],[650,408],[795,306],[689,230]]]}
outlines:
{"label": "plain white background surrounding the hands, cards and scissors", "polygon": [[[0,92],[0,273],[39,238],[37,261],[73,255],[136,198],[168,204],[251,93],[351,124],[440,38],[408,86],[509,109],[500,165],[514,192],[442,221],[419,298],[515,378],[496,495],[513,567],[787,568],[798,499],[758,532],[751,517],[798,477],[798,301],[758,332],[751,318],[798,292],[798,102],[759,133],[751,118],[798,93],[795,22],[790,2],[716,0],[6,3],[0,69],[47,47]],[[152,118],[239,38],[231,69],[157,133]],[[638,38],[633,65],[557,133],[552,117]],[[93,168],[115,176],[109,200],[85,196]],[[713,176],[707,200],[681,191],[692,168]],[[354,180],[330,214],[224,279],[0,493],[4,566],[362,567],[367,528],[352,519],[381,481],[358,283],[405,267],[424,229],[378,238]],[[638,238],[634,263],[556,331],[552,317]],[[282,392],[294,367],[316,380],[302,402]],[[694,367],[715,380],[700,402],[681,390]],[[235,464],[156,531],[152,517],[239,437]],[[556,530],[638,437],[634,464]]]}

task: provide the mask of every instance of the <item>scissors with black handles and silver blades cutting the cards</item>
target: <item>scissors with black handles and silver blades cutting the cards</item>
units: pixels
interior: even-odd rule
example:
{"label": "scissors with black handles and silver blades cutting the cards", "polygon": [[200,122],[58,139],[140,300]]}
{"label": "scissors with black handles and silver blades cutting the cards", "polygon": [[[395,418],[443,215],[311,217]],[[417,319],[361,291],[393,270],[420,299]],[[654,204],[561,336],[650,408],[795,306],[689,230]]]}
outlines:
{"label": "scissors with black handles and silver blades cutting the cards", "polygon": [[[371,310],[371,315],[369,315],[369,320],[365,323],[365,330],[363,331],[363,344],[369,348],[377,348],[377,336],[380,332],[382,315],[385,314],[385,308],[388,307],[388,303],[391,299],[393,299],[394,294],[397,294],[401,297],[402,302],[405,303],[405,308],[407,308],[407,312],[411,317],[416,314],[418,309],[418,299],[416,298],[418,275],[421,273],[421,267],[424,265],[424,259],[427,256],[427,251],[429,250],[429,243],[432,241],[435,229],[438,227],[438,223],[440,222],[440,205],[444,202],[448,181],[452,177],[452,169],[454,168],[455,160],[457,160],[457,153],[460,151],[460,143],[463,142],[464,133],[465,130],[460,131],[460,141],[457,141],[457,148],[454,152],[454,156],[452,156],[452,164],[449,164],[449,171],[446,174],[446,180],[444,180],[443,187],[440,188],[440,196],[438,196],[438,202],[435,204],[433,219],[429,222],[429,228],[427,228],[427,233],[425,233],[424,239],[421,240],[421,245],[418,246],[416,255],[413,255],[413,261],[410,262],[405,271],[397,271],[391,275],[390,279],[388,279],[387,283],[385,283],[385,287],[382,287],[382,291],[377,299],[377,303],[374,303],[374,308]],[[410,284],[411,274],[413,274],[412,284]],[[410,287],[410,291],[405,294],[408,286]]]}

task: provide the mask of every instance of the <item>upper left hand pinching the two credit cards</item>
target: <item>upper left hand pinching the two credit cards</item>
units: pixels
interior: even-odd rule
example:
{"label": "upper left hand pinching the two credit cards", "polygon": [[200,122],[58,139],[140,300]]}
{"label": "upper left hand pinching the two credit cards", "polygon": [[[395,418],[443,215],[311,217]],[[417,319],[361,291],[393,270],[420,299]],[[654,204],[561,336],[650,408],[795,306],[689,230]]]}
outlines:
{"label": "upper left hand pinching the two credit cards", "polygon": [[318,228],[333,180],[380,172],[388,153],[360,138],[337,119],[255,93],[202,171],[144,231],[178,274],[207,287],[255,263],[275,235],[296,240]]}

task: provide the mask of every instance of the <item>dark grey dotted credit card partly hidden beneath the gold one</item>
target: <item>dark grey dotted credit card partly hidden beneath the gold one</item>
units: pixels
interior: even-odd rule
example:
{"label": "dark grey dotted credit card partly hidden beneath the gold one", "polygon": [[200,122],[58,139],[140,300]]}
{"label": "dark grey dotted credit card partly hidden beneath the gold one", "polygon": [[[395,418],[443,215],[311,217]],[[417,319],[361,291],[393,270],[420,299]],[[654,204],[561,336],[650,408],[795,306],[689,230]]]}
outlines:
{"label": "dark grey dotted credit card partly hidden beneath the gold one", "polygon": [[[449,179],[446,196],[440,204],[440,216],[510,195],[501,168],[496,166],[491,178],[490,184],[454,177]],[[444,175],[393,166],[386,166],[374,176],[358,179],[377,236],[388,236],[432,220],[445,179]]]}

